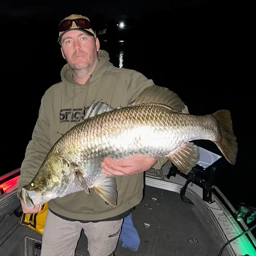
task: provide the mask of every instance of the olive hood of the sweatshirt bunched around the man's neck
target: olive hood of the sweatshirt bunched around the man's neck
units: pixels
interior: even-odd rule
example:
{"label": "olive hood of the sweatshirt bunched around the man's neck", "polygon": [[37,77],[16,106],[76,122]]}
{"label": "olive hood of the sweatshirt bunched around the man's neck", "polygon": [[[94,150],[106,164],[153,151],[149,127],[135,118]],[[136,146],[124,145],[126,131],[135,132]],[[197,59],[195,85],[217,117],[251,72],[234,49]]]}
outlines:
{"label": "olive hood of the sweatshirt bunched around the man's neck", "polygon": [[[113,66],[113,64],[109,61],[108,52],[106,52],[104,50],[99,50],[98,56],[99,56],[100,62],[95,67],[95,69],[92,72],[92,75],[89,78],[90,79],[90,81],[89,81],[90,86],[98,84],[99,81],[100,81],[101,76],[106,71],[106,69],[109,66]],[[76,86],[76,90],[77,89],[78,90],[83,89],[85,87],[83,84],[77,84],[73,80],[73,74],[72,74],[71,68],[70,68],[68,63],[61,69],[60,76],[61,76],[61,80],[65,84],[68,84],[69,86],[72,86],[72,87]]]}

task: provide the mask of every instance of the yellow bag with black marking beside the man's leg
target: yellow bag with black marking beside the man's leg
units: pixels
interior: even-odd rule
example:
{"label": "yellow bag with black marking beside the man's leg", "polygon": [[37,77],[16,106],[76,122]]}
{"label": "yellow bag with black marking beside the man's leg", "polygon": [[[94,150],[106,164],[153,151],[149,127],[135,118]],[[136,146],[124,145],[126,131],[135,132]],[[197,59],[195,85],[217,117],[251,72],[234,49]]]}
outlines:
{"label": "yellow bag with black marking beside the man's leg", "polygon": [[48,202],[43,204],[41,212],[33,214],[25,214],[23,212],[20,224],[28,226],[28,228],[31,228],[43,235],[47,212]]}

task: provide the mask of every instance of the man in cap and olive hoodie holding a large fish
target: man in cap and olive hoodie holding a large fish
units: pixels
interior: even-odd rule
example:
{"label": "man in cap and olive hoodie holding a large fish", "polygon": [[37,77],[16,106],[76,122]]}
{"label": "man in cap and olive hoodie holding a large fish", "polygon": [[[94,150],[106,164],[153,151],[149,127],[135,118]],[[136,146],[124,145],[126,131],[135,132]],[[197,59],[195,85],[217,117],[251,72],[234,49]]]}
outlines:
{"label": "man in cap and olive hoodie holding a large fish", "polygon": [[[61,70],[62,82],[54,84],[41,100],[39,116],[21,165],[18,187],[28,184],[47,153],[71,127],[83,122],[85,108],[93,100],[103,100],[112,107],[127,106],[152,80],[129,69],[114,67],[87,17],[72,14],[61,21],[58,42],[67,64]],[[113,207],[91,191],[73,193],[49,202],[41,256],[73,256],[82,228],[88,237],[91,256],[114,254],[123,219],[140,203],[143,172],[160,169],[166,159],[134,157],[114,163],[105,159],[103,172],[116,177],[118,205]],[[37,213],[42,205],[24,213]]]}

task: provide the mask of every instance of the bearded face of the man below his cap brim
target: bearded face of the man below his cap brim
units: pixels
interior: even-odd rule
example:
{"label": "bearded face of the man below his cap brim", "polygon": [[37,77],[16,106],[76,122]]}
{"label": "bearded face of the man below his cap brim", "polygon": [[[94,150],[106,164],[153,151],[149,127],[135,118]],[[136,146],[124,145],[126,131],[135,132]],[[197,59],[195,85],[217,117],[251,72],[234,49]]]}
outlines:
{"label": "bearded face of the man below his cap brim", "polygon": [[100,43],[93,36],[79,30],[66,32],[61,38],[61,52],[75,70],[89,69],[98,58]]}

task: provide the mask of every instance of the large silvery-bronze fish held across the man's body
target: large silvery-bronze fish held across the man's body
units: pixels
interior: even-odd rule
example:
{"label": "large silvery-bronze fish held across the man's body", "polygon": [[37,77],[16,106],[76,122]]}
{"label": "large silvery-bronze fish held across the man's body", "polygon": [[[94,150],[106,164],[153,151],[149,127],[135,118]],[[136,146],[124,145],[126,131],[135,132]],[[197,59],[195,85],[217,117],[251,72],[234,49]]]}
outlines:
{"label": "large silvery-bronze fish held across the man's body", "polygon": [[115,177],[102,173],[105,157],[166,157],[181,172],[198,162],[192,140],[213,141],[229,163],[235,164],[236,137],[228,110],[212,115],[182,113],[184,103],[174,92],[149,86],[127,107],[93,102],[85,120],[72,127],[51,148],[34,179],[20,191],[27,208],[84,189],[94,189],[117,205]]}

